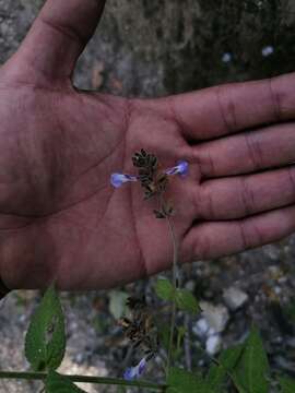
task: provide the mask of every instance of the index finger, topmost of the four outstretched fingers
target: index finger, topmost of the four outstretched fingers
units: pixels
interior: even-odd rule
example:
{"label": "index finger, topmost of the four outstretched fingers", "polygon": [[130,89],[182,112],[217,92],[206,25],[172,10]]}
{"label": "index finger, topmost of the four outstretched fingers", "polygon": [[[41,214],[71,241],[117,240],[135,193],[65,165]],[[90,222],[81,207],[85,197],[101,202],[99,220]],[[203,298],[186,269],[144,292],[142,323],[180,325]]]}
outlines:
{"label": "index finger, topmost of the four outstretched fingers", "polygon": [[210,87],[163,98],[191,141],[210,140],[266,123],[293,119],[295,73]]}

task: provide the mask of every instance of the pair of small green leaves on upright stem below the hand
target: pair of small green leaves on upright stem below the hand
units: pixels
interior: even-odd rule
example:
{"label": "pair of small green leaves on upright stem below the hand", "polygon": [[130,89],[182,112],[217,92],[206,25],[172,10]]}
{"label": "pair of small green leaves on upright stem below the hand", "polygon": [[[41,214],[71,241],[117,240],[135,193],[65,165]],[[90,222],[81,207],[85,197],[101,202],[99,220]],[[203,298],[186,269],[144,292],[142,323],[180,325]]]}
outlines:
{"label": "pair of small green leaves on upright stem below the hand", "polygon": [[167,278],[160,278],[155,286],[156,295],[166,301],[174,301],[179,310],[191,314],[197,314],[200,311],[200,306],[188,289],[174,289],[173,284]]}

